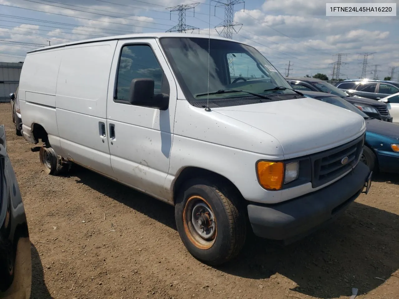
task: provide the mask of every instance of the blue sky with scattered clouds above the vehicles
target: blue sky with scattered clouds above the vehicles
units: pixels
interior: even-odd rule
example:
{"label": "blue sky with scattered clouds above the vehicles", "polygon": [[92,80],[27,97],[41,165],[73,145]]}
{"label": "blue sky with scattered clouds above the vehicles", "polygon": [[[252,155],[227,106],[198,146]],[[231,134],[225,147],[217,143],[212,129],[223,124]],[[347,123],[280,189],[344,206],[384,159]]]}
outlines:
{"label": "blue sky with scattered clouds above the vehicles", "polygon": [[[62,2],[62,4],[61,4]],[[186,24],[209,31],[209,0],[198,0],[195,16]],[[379,79],[396,67],[399,81],[399,17],[326,17],[326,2],[335,0],[247,0],[235,6],[234,20],[243,24],[233,38],[260,50],[284,75],[332,74],[337,53],[344,53],[343,79],[361,75],[362,53],[368,58],[367,76],[375,66]],[[356,1],[351,2],[378,2]],[[384,0],[383,2],[397,2]],[[169,6],[193,0],[0,0],[0,61],[23,61],[26,51],[65,41],[132,32],[166,31],[177,24]],[[211,2],[211,34],[224,18],[224,9]],[[47,13],[46,13],[47,12]],[[90,13],[91,12],[91,13]],[[93,14],[94,13],[94,14]],[[170,20],[170,17],[172,20]],[[237,28],[237,30],[239,27]],[[220,29],[219,29],[220,31]],[[24,44],[22,44],[24,43]]]}

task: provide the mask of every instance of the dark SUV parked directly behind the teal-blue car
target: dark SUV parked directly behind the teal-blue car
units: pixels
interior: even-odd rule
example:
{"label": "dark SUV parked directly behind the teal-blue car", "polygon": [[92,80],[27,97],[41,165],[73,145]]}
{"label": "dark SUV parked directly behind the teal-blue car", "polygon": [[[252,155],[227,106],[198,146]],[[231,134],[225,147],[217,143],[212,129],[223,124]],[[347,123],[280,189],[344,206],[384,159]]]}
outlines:
{"label": "dark SUV parked directly behind the teal-blue car", "polygon": [[381,105],[381,102],[371,100],[369,98],[363,98],[360,96],[350,96],[346,92],[338,89],[334,85],[316,78],[308,77],[286,77],[288,83],[293,89],[298,91],[309,90],[318,92],[327,92],[345,98],[351,104],[354,104],[361,111],[372,118],[392,122],[392,117],[389,114],[389,110],[386,104]]}

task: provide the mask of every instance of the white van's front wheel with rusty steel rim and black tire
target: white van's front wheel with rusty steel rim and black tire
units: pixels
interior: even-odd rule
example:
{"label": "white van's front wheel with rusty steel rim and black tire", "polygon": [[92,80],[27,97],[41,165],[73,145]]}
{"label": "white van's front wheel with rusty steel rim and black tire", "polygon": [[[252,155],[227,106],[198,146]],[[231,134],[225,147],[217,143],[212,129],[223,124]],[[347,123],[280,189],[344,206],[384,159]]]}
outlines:
{"label": "white van's front wheel with rusty steel rim and black tire", "polygon": [[237,256],[245,242],[246,214],[239,196],[217,181],[192,179],[176,199],[176,226],[198,260],[220,265]]}

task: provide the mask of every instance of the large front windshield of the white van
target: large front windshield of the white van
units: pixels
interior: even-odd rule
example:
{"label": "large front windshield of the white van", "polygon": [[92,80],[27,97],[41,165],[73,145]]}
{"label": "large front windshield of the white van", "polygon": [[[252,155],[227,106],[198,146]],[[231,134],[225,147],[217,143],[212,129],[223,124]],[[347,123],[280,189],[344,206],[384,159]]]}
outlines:
{"label": "large front windshield of the white van", "polygon": [[[207,98],[208,63],[209,93],[235,89],[268,96],[297,96],[277,69],[259,51],[248,45],[201,37],[164,37],[160,43],[189,101]],[[277,87],[279,89],[273,90]],[[224,92],[209,95],[209,100],[237,96],[243,98],[251,94]]]}

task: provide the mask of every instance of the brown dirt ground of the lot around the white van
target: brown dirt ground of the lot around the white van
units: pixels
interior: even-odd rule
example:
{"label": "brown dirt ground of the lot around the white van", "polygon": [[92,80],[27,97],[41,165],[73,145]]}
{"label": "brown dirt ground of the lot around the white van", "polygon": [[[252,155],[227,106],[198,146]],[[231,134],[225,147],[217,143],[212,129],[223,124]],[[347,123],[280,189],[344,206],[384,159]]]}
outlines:
{"label": "brown dirt ground of the lot around the white van", "polygon": [[32,242],[32,299],[399,298],[399,175],[377,175],[332,226],[282,247],[252,237],[219,268],[184,248],[174,208],[81,167],[41,171],[0,104]]}

